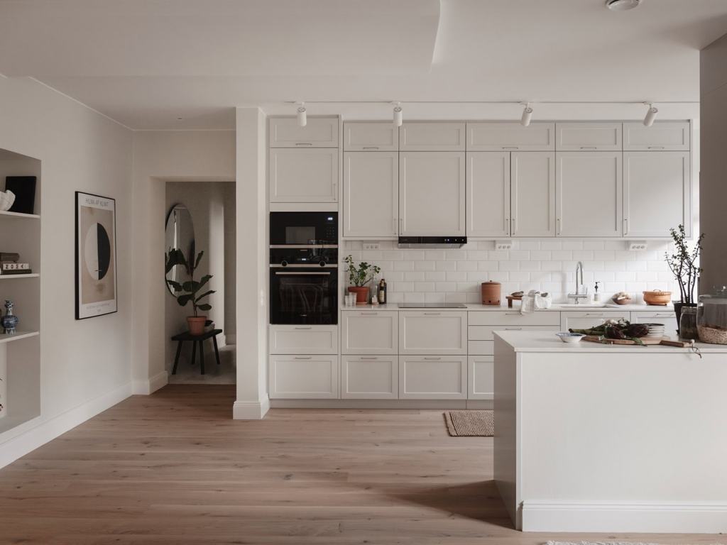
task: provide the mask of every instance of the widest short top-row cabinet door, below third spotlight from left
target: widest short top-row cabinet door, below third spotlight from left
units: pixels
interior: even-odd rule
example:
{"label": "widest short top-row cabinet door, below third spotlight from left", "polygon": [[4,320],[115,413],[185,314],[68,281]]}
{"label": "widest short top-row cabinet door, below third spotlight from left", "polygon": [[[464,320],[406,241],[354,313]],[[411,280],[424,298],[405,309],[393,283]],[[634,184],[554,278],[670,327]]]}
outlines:
{"label": "widest short top-row cabinet door, below third spotlight from left", "polygon": [[555,124],[467,123],[467,151],[553,151]]}

